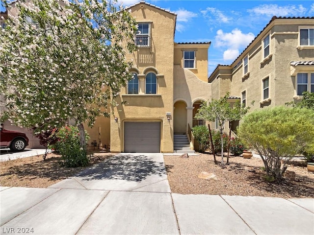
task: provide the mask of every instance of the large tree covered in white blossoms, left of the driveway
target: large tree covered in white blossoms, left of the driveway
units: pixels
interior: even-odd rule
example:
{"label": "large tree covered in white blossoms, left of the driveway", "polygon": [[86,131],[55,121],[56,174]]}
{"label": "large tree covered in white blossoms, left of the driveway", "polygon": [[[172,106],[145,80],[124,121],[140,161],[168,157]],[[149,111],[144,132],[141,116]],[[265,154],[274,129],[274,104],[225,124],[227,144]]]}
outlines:
{"label": "large tree covered in white blossoms, left of the driveway", "polygon": [[[10,12],[11,5],[4,1]],[[92,126],[131,79],[137,27],[130,13],[110,1],[17,1],[1,31],[1,93],[5,114],[36,133],[74,119],[86,150],[83,123]],[[36,134],[35,133],[35,134]]]}

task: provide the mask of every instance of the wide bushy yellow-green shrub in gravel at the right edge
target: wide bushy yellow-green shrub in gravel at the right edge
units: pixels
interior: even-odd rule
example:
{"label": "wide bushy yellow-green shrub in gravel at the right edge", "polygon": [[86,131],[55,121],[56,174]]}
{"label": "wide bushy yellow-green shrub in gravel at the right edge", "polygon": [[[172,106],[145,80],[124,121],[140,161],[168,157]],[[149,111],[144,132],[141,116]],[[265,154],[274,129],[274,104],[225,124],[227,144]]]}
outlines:
{"label": "wide bushy yellow-green shrub in gravel at the right edge", "polygon": [[260,154],[267,175],[280,181],[295,155],[314,150],[314,112],[287,107],[255,111],[243,118],[238,134]]}

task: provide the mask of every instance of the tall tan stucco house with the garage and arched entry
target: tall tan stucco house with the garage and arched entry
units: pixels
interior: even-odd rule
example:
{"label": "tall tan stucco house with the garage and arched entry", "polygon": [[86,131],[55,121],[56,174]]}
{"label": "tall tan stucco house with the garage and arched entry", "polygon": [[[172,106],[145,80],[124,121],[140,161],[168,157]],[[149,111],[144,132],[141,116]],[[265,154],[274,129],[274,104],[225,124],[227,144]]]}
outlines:
{"label": "tall tan stucco house with the garage and arched entry", "polygon": [[[99,118],[86,129],[91,140],[101,138],[111,152],[188,152],[193,146],[184,136],[193,123],[204,124],[193,117],[201,101],[211,99],[210,42],[175,43],[177,16],[168,10],[145,2],[129,10],[138,22],[138,49],[128,55],[134,78],[116,99],[125,105],[112,109],[110,123]],[[110,137],[99,136],[98,130]]]}

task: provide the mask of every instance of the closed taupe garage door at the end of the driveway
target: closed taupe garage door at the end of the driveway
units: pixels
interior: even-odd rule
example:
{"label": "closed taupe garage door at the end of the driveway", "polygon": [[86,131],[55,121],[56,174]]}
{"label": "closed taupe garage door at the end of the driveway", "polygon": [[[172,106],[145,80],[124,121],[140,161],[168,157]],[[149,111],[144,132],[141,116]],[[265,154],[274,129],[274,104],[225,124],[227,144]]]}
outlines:
{"label": "closed taupe garage door at the end of the driveway", "polygon": [[124,152],[159,153],[160,122],[126,121],[124,123]]}

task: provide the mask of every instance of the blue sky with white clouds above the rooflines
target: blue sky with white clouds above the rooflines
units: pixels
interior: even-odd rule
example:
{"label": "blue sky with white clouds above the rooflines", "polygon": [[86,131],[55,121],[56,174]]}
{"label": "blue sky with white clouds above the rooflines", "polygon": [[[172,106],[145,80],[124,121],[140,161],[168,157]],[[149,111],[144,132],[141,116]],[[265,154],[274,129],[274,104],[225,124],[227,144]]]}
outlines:
{"label": "blue sky with white clouds above the rooflines", "polygon": [[[139,0],[124,0],[126,6]],[[273,16],[314,16],[313,0],[146,0],[177,14],[175,42],[211,42],[209,75],[229,65]]]}

